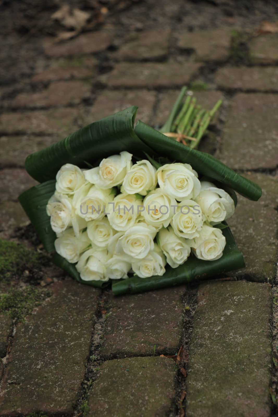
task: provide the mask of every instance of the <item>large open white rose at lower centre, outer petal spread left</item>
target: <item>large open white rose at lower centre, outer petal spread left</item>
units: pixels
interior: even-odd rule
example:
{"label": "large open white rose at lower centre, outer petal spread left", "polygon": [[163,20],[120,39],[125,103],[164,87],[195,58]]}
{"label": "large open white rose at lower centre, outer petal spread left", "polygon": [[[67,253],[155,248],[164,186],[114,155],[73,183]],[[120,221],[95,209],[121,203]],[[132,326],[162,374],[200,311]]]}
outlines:
{"label": "large open white rose at lower centre, outer petal spread left", "polygon": [[114,254],[127,254],[130,259],[142,259],[149,251],[153,251],[156,230],[145,223],[136,224],[130,227],[125,234],[120,233],[113,236],[108,250]]}

